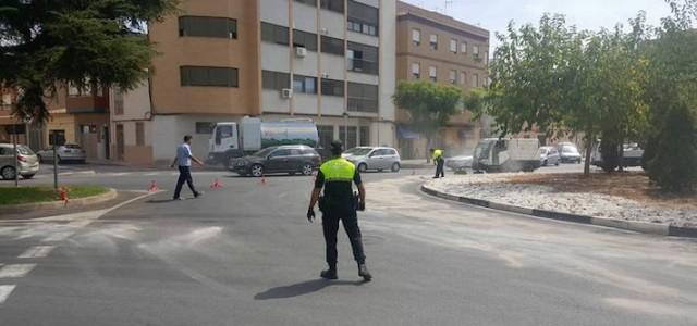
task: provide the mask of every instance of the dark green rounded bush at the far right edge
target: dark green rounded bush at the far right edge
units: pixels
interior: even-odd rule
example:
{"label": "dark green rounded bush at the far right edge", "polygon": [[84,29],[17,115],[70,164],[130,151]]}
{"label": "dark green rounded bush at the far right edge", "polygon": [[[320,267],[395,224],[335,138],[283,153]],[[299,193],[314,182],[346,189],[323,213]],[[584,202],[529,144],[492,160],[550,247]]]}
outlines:
{"label": "dark green rounded bush at the far right edge", "polygon": [[697,185],[697,121],[686,105],[669,110],[648,162],[651,179],[664,189],[690,191]]}

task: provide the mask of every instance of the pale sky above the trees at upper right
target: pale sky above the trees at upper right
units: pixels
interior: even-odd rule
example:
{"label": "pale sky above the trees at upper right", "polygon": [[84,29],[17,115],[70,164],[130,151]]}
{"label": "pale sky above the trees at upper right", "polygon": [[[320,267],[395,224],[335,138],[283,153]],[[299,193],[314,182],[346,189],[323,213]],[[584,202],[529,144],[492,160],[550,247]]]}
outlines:
{"label": "pale sky above the trees at upper right", "polygon": [[644,10],[650,25],[659,25],[661,17],[671,14],[663,0],[404,0],[435,10],[458,21],[491,32],[491,51],[496,47],[494,32],[505,32],[510,21],[516,25],[537,24],[543,13],[564,14],[571,25],[579,29],[611,28]]}

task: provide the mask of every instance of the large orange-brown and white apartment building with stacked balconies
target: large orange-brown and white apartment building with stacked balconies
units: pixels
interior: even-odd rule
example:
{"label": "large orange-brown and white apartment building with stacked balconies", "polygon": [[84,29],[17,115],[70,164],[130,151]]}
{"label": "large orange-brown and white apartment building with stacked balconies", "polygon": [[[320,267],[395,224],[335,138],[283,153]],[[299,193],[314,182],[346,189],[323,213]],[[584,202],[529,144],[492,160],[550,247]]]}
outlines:
{"label": "large orange-brown and white apartment building with stacked balconies", "polygon": [[149,26],[148,83],[114,91],[114,158],[170,161],[181,138],[208,153],[215,122],[311,118],[320,143],[393,145],[393,0],[185,0]]}

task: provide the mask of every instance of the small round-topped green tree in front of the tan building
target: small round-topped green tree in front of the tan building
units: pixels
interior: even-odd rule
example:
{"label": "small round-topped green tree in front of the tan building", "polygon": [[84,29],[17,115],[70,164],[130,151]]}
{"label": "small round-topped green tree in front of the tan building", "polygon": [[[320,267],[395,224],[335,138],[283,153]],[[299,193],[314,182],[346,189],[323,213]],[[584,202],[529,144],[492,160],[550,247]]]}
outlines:
{"label": "small round-topped green tree in front of the tan building", "polygon": [[460,111],[461,100],[460,88],[430,82],[402,82],[393,96],[394,104],[409,114],[414,129],[426,137],[426,152],[431,139]]}

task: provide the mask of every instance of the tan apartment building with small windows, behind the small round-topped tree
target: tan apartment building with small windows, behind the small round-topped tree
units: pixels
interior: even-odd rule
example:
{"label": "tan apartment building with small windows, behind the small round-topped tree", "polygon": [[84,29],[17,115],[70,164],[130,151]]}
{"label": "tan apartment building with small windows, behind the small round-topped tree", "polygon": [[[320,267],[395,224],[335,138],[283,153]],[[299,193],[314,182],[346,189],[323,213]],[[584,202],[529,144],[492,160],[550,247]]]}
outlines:
{"label": "tan apartment building with small windows, behind the small round-topped tree", "polygon": [[[396,78],[431,80],[468,91],[488,83],[489,32],[408,3],[396,4]],[[424,158],[426,139],[411,128],[408,114],[398,110],[398,138],[405,158]],[[473,149],[482,124],[470,112],[454,116],[433,146],[452,154]]]}

